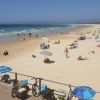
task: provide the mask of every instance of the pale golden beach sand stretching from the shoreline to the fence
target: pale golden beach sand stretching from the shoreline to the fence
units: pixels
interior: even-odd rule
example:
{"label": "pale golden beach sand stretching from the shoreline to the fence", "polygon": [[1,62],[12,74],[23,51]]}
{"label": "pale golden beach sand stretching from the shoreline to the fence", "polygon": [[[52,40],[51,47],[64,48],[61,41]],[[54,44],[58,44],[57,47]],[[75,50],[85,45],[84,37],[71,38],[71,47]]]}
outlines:
{"label": "pale golden beach sand stretching from the shoreline to the fence", "polygon": [[[14,72],[74,86],[86,85],[100,91],[100,48],[96,47],[100,42],[96,42],[92,35],[95,30],[100,28],[100,25],[93,24],[90,26],[72,30],[70,34],[60,33],[48,36],[50,40],[50,49],[48,51],[53,54],[49,58],[55,61],[54,63],[46,64],[43,62],[45,56],[40,54],[43,50],[39,46],[41,39],[32,38],[25,41],[0,44],[0,65],[11,66]],[[90,31],[90,34],[86,34],[88,31]],[[79,41],[78,48],[69,49],[68,55],[70,57],[66,58],[65,47],[69,47],[69,44],[77,40],[80,33],[85,33],[87,37],[92,39]],[[60,40],[61,43],[54,44],[55,40]],[[2,55],[5,49],[9,51],[10,55]],[[91,51],[95,51],[95,54],[91,53]],[[32,57],[33,54],[36,55],[36,58]],[[77,60],[80,55],[88,57],[88,60]],[[67,92],[69,90],[67,86],[59,86],[53,83],[47,84],[55,89],[64,89]],[[99,99],[100,94],[96,94],[94,100]]]}

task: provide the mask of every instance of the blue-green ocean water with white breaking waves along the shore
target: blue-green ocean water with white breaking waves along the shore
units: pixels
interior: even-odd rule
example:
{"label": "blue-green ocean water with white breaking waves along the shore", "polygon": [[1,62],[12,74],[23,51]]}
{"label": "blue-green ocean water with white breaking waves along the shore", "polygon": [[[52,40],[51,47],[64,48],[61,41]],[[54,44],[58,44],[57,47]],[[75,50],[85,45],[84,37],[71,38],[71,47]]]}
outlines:
{"label": "blue-green ocean water with white breaking waves along the shore", "polygon": [[55,32],[69,31],[72,28],[79,27],[79,24],[62,25],[0,25],[0,41],[14,40],[17,34],[32,33],[38,35],[48,35]]}

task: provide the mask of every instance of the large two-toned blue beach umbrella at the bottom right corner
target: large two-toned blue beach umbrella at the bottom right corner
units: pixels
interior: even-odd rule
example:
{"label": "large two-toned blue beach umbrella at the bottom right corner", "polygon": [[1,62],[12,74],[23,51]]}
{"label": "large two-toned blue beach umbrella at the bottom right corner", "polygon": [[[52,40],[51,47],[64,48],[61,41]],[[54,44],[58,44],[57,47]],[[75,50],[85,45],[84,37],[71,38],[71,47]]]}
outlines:
{"label": "large two-toned blue beach umbrella at the bottom right corner", "polygon": [[86,100],[94,97],[96,92],[88,86],[78,86],[72,91],[72,94],[75,97]]}

